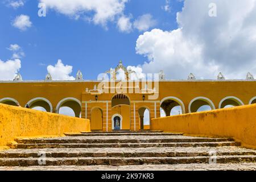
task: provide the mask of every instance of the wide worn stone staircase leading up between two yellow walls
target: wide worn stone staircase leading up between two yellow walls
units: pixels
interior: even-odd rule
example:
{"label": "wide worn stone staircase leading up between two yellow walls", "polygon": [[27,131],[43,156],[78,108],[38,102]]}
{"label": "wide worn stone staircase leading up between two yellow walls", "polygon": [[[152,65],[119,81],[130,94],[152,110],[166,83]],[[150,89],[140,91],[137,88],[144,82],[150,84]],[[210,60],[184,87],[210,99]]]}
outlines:
{"label": "wide worn stone staircase leading up between two yellow walls", "polygon": [[167,169],[178,165],[207,167],[215,161],[218,165],[245,164],[247,169],[248,165],[249,169],[256,169],[256,151],[241,148],[232,138],[186,137],[162,131],[66,135],[17,139],[17,144],[11,146],[15,149],[0,151],[0,169],[36,166],[36,169],[60,166],[112,169],[118,166],[127,170],[145,169],[150,165],[153,165],[150,169],[164,169],[163,165],[167,165]]}

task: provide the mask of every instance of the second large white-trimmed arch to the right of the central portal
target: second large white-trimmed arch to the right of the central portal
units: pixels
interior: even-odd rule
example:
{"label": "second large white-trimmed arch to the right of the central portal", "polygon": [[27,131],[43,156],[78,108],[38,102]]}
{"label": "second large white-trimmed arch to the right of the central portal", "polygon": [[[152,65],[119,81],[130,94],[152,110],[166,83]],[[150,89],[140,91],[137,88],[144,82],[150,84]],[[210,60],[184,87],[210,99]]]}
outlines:
{"label": "second large white-trimmed arch to the right of the central portal", "polygon": [[209,105],[212,110],[215,109],[213,102],[209,98],[196,97],[189,102],[188,111],[189,113],[195,113],[201,106],[204,105]]}

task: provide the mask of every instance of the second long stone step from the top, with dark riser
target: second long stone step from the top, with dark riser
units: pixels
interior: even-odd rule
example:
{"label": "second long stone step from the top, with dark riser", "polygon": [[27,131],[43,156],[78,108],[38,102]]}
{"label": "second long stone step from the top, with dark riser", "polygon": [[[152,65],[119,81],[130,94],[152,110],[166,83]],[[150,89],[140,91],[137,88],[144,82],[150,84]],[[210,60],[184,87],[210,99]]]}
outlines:
{"label": "second long stone step from the top, with dark riser", "polygon": [[12,148],[110,148],[110,147],[220,147],[240,146],[239,142],[179,142],[179,143],[31,143],[13,144]]}

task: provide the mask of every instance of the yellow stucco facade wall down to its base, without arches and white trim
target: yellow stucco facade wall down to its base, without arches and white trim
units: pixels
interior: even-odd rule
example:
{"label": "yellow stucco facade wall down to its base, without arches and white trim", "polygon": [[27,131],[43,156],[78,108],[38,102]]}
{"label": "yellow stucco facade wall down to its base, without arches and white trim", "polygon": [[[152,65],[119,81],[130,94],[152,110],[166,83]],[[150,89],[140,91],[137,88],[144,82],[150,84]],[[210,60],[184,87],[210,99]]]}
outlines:
{"label": "yellow stucco facade wall down to its base, without arches and white trim", "polygon": [[[112,98],[113,96],[115,96],[115,94],[117,94],[117,92],[98,94],[98,98],[96,101],[95,95],[86,92],[86,90],[92,90],[94,88],[94,85],[99,84],[100,81],[0,82],[0,100],[6,97],[14,98],[16,101],[19,102],[20,106],[24,107],[28,103],[28,101],[34,100],[38,97],[42,97],[51,102],[52,112],[55,113],[58,109],[57,105],[60,104],[61,100],[72,97],[81,102],[82,118],[91,119],[91,111],[93,107],[100,107],[103,112],[102,129],[103,131],[112,131],[112,115],[114,113],[117,113],[114,112],[112,109]],[[115,84],[117,85],[118,82],[116,82]],[[139,85],[141,89],[144,88],[142,86],[142,82],[139,82]],[[152,88],[154,88],[154,86]],[[136,89],[134,89],[133,91],[135,92],[135,90]],[[159,97],[156,98],[156,100],[149,100],[147,94],[145,96],[145,100],[143,101],[143,94],[124,93],[130,99],[130,109],[122,110],[122,115],[125,119],[123,120],[123,129],[140,129],[138,110],[141,107],[146,107],[150,110],[150,119],[160,117],[160,104],[163,101],[168,100],[168,98],[170,97],[179,98],[181,100],[181,105],[184,104],[184,113],[188,113],[189,103],[197,97],[207,97],[210,101],[212,101],[213,106],[217,109],[220,101],[223,98],[233,96],[240,99],[243,104],[249,104],[249,101],[252,98],[256,97],[255,93],[256,81],[160,81]],[[198,104],[200,102],[196,103]],[[192,106],[195,106],[195,103],[192,104]],[[77,115],[80,114],[80,106],[79,109],[72,109],[77,110]]]}

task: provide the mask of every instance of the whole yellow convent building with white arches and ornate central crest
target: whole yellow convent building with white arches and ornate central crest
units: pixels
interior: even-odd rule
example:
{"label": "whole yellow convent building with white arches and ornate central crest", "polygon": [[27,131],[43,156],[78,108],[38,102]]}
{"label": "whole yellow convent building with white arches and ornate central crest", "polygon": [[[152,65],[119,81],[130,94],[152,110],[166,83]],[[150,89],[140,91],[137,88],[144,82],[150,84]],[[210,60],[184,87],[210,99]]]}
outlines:
{"label": "whole yellow convent building with white arches and ornate central crest", "polygon": [[[117,73],[124,73],[118,78]],[[91,130],[143,130],[147,109],[152,118],[160,117],[160,108],[170,115],[175,106],[182,113],[196,112],[201,106],[211,109],[227,105],[256,103],[256,81],[248,73],[246,80],[196,80],[191,73],[187,80],[165,80],[164,73],[151,79],[135,79],[136,73],[120,61],[115,69],[105,73],[110,78],[83,80],[79,71],[74,81],[23,81],[18,74],[13,81],[0,82],[0,103],[23,107],[44,107],[59,113],[61,107],[71,107],[76,117],[90,120]],[[181,113],[180,113],[181,114]]]}

